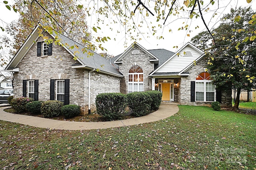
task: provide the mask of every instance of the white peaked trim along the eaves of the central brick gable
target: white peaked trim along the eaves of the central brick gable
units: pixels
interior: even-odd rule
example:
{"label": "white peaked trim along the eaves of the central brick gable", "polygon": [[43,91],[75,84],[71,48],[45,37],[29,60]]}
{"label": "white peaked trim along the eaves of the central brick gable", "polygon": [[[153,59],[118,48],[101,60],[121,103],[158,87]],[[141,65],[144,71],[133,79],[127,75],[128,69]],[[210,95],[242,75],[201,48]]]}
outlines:
{"label": "white peaked trim along the eaves of the central brick gable", "polygon": [[136,47],[141,49],[142,51],[144,51],[150,57],[150,61],[154,61],[154,62],[158,63],[158,58],[156,56],[154,56],[152,53],[150,53],[150,51],[148,51],[144,47],[142,47],[140,44],[138,44],[137,42],[132,43],[132,45],[130,45],[130,47],[128,47],[128,49],[126,49],[126,51],[124,51],[124,53],[122,53],[119,57],[117,57],[117,59],[114,61],[114,63],[116,63],[116,64],[122,63],[122,59],[124,58],[124,56]]}

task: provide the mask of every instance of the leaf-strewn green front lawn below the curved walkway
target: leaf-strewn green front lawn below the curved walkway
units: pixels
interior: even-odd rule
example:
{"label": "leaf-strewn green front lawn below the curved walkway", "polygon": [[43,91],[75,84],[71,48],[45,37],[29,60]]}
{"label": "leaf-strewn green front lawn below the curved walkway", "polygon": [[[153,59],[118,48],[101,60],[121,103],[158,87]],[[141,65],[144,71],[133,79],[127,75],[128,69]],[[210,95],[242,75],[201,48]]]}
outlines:
{"label": "leaf-strewn green front lawn below the curved walkway", "polygon": [[254,169],[256,116],[179,106],[162,121],[52,130],[0,121],[0,169]]}

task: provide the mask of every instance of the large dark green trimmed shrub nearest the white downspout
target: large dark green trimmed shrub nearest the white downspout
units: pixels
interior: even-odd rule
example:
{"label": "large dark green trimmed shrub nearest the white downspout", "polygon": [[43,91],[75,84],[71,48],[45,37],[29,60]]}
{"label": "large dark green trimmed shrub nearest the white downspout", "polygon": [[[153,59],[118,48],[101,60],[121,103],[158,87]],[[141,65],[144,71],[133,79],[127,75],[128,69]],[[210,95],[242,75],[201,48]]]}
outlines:
{"label": "large dark green trimmed shrub nearest the white downspout", "polygon": [[102,93],[96,96],[96,109],[107,121],[119,119],[127,107],[127,97],[122,93]]}

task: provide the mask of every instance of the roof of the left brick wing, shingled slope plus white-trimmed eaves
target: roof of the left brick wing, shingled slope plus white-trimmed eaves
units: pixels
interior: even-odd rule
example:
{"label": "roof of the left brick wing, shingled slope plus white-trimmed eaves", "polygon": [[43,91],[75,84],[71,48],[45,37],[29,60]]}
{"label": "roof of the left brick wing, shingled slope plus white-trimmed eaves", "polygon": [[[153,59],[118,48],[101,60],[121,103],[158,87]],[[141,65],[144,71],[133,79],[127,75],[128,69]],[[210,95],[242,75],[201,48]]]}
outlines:
{"label": "roof of the left brick wing, shingled slope plus white-trimmed eaves", "polygon": [[[33,32],[30,34],[30,36],[26,39],[24,44],[20,47],[20,49],[17,51],[17,53],[14,55],[10,63],[6,67],[6,71],[18,71],[18,64],[23,59],[23,57],[26,55],[28,50],[32,47],[32,45],[36,42],[36,40],[39,38],[39,34],[36,32],[38,28],[40,27],[40,24],[36,26],[36,28],[33,30]],[[53,33],[50,34],[53,39],[58,37],[60,40],[60,43],[62,46],[68,51],[74,58],[79,61],[79,65],[75,64],[72,66],[72,68],[86,68],[86,69],[97,69],[97,71],[123,77],[123,75],[118,72],[115,67],[110,64],[110,62],[105,59],[104,57],[100,56],[99,54],[95,53],[94,51],[87,49],[83,45],[75,42],[74,40],[71,40],[70,38],[60,34],[60,33]],[[70,46],[76,46],[78,48],[70,48]],[[84,52],[82,49],[86,49],[86,52]],[[88,53],[91,53],[91,56],[88,56]]]}

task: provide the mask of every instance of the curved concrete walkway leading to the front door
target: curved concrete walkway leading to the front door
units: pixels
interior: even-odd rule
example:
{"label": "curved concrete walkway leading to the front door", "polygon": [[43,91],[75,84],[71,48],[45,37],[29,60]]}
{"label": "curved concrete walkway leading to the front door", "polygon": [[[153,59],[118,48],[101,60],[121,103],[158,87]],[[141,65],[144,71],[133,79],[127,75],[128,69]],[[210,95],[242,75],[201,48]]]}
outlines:
{"label": "curved concrete walkway leading to the front door", "polygon": [[60,130],[88,130],[138,125],[141,123],[148,123],[165,119],[179,111],[179,108],[176,104],[161,104],[156,112],[143,117],[110,122],[71,122],[7,113],[3,111],[5,108],[7,107],[0,108],[0,120],[2,121],[20,123],[33,127],[52,128]]}

